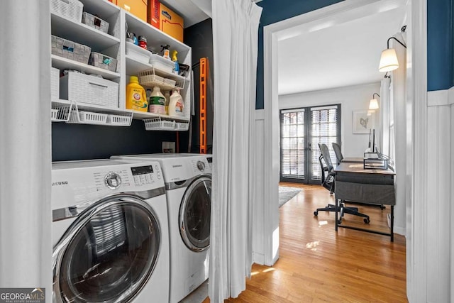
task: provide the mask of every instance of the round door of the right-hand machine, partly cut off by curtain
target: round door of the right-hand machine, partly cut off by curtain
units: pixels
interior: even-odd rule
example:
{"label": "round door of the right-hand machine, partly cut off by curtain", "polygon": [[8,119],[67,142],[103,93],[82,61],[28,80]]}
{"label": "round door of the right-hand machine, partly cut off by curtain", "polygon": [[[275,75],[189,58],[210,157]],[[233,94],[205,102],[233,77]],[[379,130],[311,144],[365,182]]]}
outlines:
{"label": "round door of the right-hand machine, partly cut off by curtain", "polygon": [[194,251],[209,248],[211,219],[211,178],[199,177],[184,192],[179,206],[179,233]]}

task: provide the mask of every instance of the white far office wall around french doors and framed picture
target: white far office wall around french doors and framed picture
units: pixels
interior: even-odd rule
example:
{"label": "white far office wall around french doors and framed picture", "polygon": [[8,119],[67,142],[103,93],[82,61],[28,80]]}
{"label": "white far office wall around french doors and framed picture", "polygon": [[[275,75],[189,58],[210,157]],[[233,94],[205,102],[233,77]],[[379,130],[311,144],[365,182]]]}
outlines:
{"label": "white far office wall around french doors and framed picture", "polygon": [[[374,93],[380,94],[380,82],[372,84],[323,89],[316,92],[287,94],[279,96],[279,109],[294,109],[305,106],[341,104],[341,145],[343,156],[362,157],[369,141],[368,134],[352,133],[353,110],[369,109]],[[380,104],[380,99],[379,99]],[[374,128],[380,124],[379,112],[372,114]]]}

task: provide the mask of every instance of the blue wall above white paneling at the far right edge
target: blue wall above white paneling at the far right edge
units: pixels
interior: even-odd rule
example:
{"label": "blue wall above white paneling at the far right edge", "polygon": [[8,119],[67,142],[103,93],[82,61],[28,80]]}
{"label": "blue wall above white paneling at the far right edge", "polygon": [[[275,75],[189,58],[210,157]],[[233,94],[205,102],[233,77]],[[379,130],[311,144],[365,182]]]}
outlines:
{"label": "blue wall above white paneling at the far right edge", "polygon": [[453,56],[453,0],[428,0],[428,91],[453,87]]}

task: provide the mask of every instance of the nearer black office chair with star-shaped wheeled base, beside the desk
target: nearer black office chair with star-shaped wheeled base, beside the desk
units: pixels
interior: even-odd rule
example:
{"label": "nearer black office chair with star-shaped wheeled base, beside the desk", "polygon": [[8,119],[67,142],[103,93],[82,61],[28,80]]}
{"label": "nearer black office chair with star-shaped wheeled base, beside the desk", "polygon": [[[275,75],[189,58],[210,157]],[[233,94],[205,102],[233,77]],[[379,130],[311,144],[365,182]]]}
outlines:
{"label": "nearer black office chair with star-shaped wheeled base, beside the desk", "polygon": [[[326,144],[319,144],[319,148],[321,151],[321,155],[319,157],[319,162],[321,166],[321,185],[328,189],[330,194],[332,194],[336,186],[334,177],[336,175],[336,172],[334,172],[333,162],[331,162],[331,156],[329,155],[328,146],[326,146]],[[323,162],[325,162],[326,165],[323,165]],[[370,218],[369,216],[367,216],[367,214],[360,213],[358,211],[358,207],[345,206],[343,200],[341,200],[341,203],[339,203],[337,209],[336,205],[333,204],[328,204],[328,206],[326,207],[316,209],[316,211],[314,211],[314,216],[318,216],[319,211],[340,211],[341,215],[339,216],[338,224],[341,224],[344,214],[353,214],[354,216],[361,216],[364,218],[364,223],[366,224],[370,223]]]}

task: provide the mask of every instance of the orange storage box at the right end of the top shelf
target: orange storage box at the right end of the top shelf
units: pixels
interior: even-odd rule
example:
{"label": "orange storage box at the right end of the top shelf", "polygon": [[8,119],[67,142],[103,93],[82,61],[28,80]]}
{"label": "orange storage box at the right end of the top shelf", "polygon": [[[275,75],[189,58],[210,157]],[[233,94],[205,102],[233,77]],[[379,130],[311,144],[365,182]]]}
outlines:
{"label": "orange storage box at the right end of the top shelf", "polygon": [[158,0],[148,0],[148,19],[155,28],[183,42],[184,20]]}

